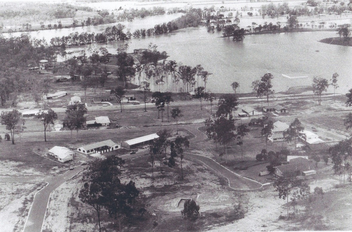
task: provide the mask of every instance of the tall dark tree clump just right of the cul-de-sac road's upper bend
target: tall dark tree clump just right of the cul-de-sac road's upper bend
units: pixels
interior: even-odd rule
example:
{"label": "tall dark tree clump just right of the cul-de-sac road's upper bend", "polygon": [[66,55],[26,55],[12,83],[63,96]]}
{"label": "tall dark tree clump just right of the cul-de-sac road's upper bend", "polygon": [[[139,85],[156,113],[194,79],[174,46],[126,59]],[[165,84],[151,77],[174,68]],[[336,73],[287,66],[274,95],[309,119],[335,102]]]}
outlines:
{"label": "tall dark tree clump just right of the cul-de-sac road's upper bend", "polygon": [[233,140],[241,148],[241,159],[243,159],[243,138],[250,131],[245,124],[235,126],[233,111],[237,109],[238,98],[236,96],[221,96],[218,102],[218,110],[213,118],[205,121],[207,127],[206,134],[209,139],[213,139],[215,144],[224,146],[225,162],[227,163],[227,144]]}

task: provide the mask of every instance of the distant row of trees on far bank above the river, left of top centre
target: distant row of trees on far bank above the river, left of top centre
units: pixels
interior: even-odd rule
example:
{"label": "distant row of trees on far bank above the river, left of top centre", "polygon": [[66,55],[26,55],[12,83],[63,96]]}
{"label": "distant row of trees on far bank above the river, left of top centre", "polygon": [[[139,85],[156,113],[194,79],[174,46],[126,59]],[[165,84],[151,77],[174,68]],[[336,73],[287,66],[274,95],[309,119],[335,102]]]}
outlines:
{"label": "distant row of trees on far bank above the river, left of top centre", "polygon": [[144,7],[140,9],[131,8],[129,10],[125,9],[121,13],[116,15],[118,21],[133,21],[135,18],[145,18],[152,15],[164,15],[165,9],[163,7],[153,7],[150,9],[145,9]]}

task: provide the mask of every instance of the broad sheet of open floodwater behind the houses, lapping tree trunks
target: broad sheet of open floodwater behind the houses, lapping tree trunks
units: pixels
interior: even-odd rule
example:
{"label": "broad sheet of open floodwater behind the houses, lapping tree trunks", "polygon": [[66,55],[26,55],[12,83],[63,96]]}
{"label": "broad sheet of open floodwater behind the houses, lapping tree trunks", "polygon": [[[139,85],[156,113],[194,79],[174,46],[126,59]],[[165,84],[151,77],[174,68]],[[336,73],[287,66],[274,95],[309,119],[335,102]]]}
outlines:
{"label": "broad sheet of open floodwater behind the houses, lapping tree trunks", "polygon": [[[127,52],[147,48],[149,43],[153,43],[159,51],[168,53],[168,60],[191,66],[201,64],[213,73],[208,78],[206,88],[214,93],[233,93],[230,84],[234,81],[240,83],[238,93],[251,92],[252,81],[260,79],[266,72],[274,75],[272,84],[275,92],[292,86],[311,85],[314,76],[330,80],[335,72],[340,75],[337,92],[346,93],[352,88],[352,47],[318,42],[323,38],[335,37],[336,32],[249,35],[243,42],[219,36],[217,33],[209,34],[204,27],[182,29],[168,35],[128,40]],[[121,43],[90,44],[69,48],[68,51],[78,53],[83,49],[102,46],[116,53]],[[151,90],[175,92],[178,88],[168,80],[161,86],[152,84]],[[329,87],[328,92],[333,92],[333,88]]]}

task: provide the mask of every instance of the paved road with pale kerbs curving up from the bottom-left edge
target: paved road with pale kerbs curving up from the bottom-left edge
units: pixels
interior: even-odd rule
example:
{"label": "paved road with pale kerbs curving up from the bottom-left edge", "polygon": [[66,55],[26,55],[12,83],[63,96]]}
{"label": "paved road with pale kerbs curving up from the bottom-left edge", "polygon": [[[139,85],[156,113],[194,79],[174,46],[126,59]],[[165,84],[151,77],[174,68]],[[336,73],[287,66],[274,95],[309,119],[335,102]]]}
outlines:
{"label": "paved road with pale kerbs curving up from the bottom-left edge", "polygon": [[48,185],[42,188],[34,197],[32,208],[27,217],[23,232],[40,232],[45,218],[46,207],[48,206],[50,193],[65,181],[82,171],[86,166],[76,166],[74,170],[54,177],[44,179]]}

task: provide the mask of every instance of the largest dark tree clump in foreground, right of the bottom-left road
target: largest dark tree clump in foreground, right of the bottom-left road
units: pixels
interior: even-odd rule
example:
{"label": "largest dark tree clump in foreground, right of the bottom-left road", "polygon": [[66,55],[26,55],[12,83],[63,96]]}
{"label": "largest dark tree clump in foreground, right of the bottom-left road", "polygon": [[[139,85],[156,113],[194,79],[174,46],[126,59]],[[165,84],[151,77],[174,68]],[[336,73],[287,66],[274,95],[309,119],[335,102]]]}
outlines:
{"label": "largest dark tree clump in foreground, right of the bottom-left road", "polygon": [[[83,203],[92,206],[97,214],[99,231],[101,231],[100,215],[106,210],[109,217],[118,220],[119,231],[123,219],[143,217],[146,212],[137,202],[139,190],[135,183],[122,183],[119,176],[124,160],[117,156],[109,156],[102,161],[95,161],[84,172],[83,186],[78,197]],[[114,223],[115,224],[115,223]]]}

